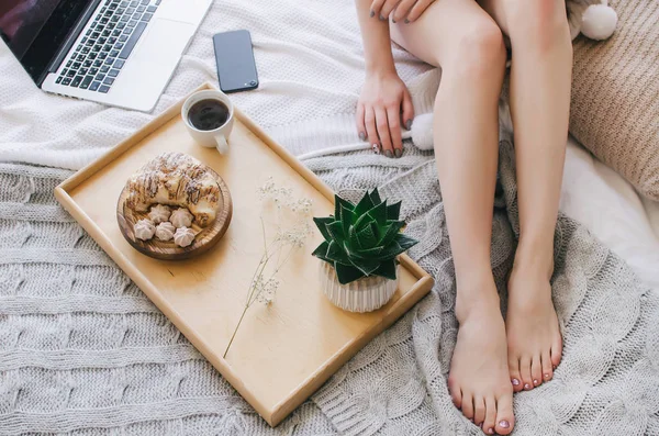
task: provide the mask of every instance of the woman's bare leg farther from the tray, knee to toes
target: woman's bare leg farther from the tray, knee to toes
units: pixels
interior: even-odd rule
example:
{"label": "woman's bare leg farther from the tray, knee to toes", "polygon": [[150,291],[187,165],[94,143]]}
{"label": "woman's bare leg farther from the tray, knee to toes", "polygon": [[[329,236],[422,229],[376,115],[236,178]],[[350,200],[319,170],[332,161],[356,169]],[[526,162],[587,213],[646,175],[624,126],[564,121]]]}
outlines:
{"label": "woman's bare leg farther from the tray, knee to toes", "polygon": [[565,0],[483,0],[511,37],[511,114],[517,163],[520,245],[509,282],[506,331],[515,391],[548,381],[562,339],[551,301],[554,232],[572,75]]}

